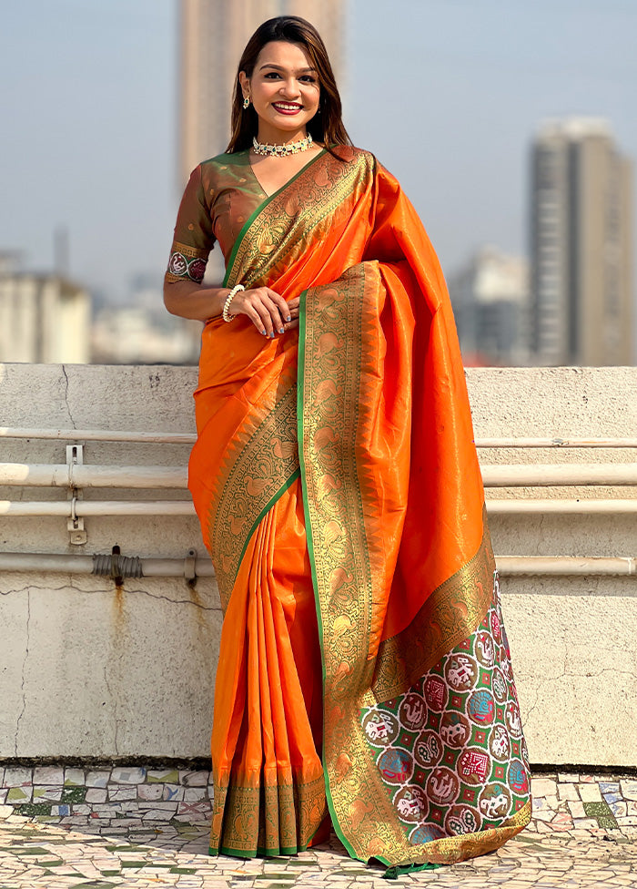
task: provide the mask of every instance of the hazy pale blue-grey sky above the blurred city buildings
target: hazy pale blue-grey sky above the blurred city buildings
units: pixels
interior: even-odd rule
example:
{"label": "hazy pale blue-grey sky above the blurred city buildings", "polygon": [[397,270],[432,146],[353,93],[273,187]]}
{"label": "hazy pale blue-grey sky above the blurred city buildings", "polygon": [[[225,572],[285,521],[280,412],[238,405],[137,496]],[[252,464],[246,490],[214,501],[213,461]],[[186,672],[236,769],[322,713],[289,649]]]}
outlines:
{"label": "hazy pale blue-grey sky above the blurred city buildings", "polygon": [[[163,271],[178,196],[174,0],[3,4],[0,250],[122,299]],[[636,0],[350,0],[346,125],[402,182],[450,272],[526,248],[543,118],[611,121],[637,158]]]}

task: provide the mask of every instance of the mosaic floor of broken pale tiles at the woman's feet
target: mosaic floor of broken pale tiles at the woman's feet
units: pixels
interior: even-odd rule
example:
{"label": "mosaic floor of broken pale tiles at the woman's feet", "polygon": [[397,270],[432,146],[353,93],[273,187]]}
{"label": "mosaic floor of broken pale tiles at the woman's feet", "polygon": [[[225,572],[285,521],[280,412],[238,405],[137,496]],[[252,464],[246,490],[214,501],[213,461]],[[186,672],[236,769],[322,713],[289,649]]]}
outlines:
{"label": "mosaic floor of broken pale tiles at the woman's feet", "polygon": [[499,852],[393,882],[349,859],[335,837],[294,858],[210,858],[207,772],[7,769],[3,777],[0,889],[637,889],[634,777],[536,776],[533,821]]}

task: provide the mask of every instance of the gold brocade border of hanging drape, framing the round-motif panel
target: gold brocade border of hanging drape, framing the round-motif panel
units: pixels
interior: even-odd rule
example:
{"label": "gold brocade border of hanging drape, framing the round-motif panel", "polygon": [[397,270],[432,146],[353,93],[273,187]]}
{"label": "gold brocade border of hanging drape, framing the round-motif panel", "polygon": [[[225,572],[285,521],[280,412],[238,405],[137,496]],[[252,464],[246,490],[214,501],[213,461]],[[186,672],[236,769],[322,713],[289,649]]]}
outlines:
{"label": "gold brocade border of hanging drape, framing the round-motif panel", "polygon": [[[427,626],[427,633],[433,629],[430,643],[416,647],[415,658],[399,672],[389,666],[392,650],[413,645],[414,636],[403,631],[386,640],[372,690],[373,594],[381,581],[372,566],[378,564],[374,549],[382,542],[374,539],[369,523],[373,495],[357,463],[357,446],[373,423],[364,373],[375,368],[370,332],[378,327],[383,286],[378,265],[363,263],[331,285],[310,289],[302,303],[299,450],[324,658],[323,762],[330,809],[351,854],[394,865],[451,863],[497,848],[528,823],[531,810],[527,805],[481,833],[412,844],[363,731],[360,711],[386,693],[407,691],[412,671],[431,666],[478,627],[493,593],[493,556],[485,534],[467,566],[434,591],[429,608],[421,608],[416,618],[420,631],[428,619],[435,624]],[[328,333],[336,345],[326,351]],[[471,604],[472,597],[477,601]],[[400,659],[405,651],[401,648]]]}

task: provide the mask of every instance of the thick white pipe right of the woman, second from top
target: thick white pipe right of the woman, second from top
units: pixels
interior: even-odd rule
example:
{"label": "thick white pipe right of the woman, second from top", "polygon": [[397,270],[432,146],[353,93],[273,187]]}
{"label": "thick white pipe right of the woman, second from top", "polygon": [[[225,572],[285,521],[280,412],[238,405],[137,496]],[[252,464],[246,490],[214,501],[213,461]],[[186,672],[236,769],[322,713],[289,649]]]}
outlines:
{"label": "thick white pipe right of the woman, second from top", "polygon": [[636,463],[491,464],[481,470],[485,487],[637,485]]}

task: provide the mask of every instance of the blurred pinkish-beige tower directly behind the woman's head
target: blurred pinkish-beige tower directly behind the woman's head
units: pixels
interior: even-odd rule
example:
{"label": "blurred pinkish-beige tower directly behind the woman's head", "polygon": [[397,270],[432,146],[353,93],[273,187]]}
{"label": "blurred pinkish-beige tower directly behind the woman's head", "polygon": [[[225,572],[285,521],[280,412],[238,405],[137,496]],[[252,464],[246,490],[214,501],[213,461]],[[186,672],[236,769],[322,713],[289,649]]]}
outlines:
{"label": "blurred pinkish-beige tower directly behind the woman's head", "polygon": [[257,27],[275,15],[307,18],[342,77],[347,5],[347,0],[180,0],[179,189],[200,161],[227,146],[239,56]]}

